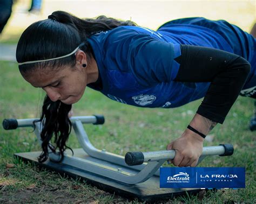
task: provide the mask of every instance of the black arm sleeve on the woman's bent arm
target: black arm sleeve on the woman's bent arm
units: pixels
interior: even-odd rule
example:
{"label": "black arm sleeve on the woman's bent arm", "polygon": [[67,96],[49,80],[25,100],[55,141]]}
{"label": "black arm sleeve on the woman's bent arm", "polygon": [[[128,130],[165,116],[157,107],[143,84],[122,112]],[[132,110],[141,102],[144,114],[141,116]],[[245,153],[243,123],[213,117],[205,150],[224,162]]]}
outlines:
{"label": "black arm sleeve on the woman's bent arm", "polygon": [[174,81],[211,82],[197,113],[223,123],[244,86],[251,65],[238,55],[214,48],[181,45]]}

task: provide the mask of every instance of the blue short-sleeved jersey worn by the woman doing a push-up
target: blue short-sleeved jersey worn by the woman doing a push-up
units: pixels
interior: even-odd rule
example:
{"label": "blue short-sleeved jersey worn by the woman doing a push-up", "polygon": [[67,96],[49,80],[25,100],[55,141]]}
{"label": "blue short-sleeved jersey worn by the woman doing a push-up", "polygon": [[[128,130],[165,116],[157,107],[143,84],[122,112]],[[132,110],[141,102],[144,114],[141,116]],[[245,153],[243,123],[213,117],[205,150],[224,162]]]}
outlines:
{"label": "blue short-sleeved jersey worn by the woman doing a push-up", "polygon": [[[234,38],[239,40],[234,43]],[[180,44],[218,48],[248,61],[254,59],[255,50],[255,39],[248,33],[225,21],[204,18],[174,20],[157,31],[120,26],[88,40],[95,54],[102,89],[88,86],[112,100],[149,108],[179,107],[204,97],[207,92],[209,82],[174,81],[179,71],[174,59],[181,54]]]}

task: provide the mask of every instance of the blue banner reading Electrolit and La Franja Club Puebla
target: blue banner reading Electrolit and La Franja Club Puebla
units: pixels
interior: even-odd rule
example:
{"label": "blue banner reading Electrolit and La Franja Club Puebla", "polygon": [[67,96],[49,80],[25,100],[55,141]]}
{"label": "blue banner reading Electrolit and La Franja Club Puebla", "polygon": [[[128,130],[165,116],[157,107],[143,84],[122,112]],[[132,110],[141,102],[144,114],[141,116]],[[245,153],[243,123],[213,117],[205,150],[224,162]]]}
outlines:
{"label": "blue banner reading Electrolit and La Franja Club Puebla", "polygon": [[160,188],[245,188],[245,168],[160,167]]}

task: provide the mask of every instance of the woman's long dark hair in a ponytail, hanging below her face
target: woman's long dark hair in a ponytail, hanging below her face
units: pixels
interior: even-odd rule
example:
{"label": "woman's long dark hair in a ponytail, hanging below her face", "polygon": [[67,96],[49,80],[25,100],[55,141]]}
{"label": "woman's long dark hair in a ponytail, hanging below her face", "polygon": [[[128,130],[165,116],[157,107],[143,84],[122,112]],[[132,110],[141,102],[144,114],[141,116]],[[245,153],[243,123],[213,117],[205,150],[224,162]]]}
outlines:
{"label": "woman's long dark hair in a ponytail, hanging below her face", "polygon": [[[57,58],[71,53],[83,43],[80,49],[90,60],[93,51],[87,38],[100,31],[111,30],[123,25],[136,26],[130,20],[121,21],[105,16],[99,16],[95,19],[80,19],[64,11],[55,11],[48,19],[33,23],[22,33],[17,45],[16,59],[21,63]],[[73,54],[58,60],[19,65],[19,71],[25,74],[46,67],[51,67],[57,71],[64,65],[73,67],[75,64],[76,58]],[[41,132],[43,152],[38,157],[39,162],[42,163],[48,158],[48,149],[52,152],[56,152],[58,149],[62,159],[64,151],[67,148],[70,149],[66,146],[72,125],[68,117],[70,110],[71,105],[61,101],[52,102],[48,96],[45,97],[42,115],[39,119],[40,122],[44,122]],[[55,137],[52,141],[53,135]]]}

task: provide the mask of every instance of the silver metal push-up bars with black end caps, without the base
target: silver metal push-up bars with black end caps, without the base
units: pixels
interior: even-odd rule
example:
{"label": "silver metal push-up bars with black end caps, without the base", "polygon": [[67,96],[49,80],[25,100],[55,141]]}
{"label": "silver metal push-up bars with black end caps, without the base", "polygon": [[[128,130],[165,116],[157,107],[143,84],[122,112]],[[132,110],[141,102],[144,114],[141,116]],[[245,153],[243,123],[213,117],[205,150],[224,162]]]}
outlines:
{"label": "silver metal push-up bars with black end caps, without the base", "polygon": [[[3,127],[5,130],[12,130],[21,127],[34,127],[33,121],[38,118],[31,119],[4,119]],[[123,182],[125,184],[139,184],[146,181],[152,175],[159,175],[159,167],[164,164],[166,160],[173,159],[175,157],[174,150],[154,151],[154,152],[127,152],[125,157],[118,154],[113,154],[105,150],[96,149],[90,142],[83,124],[103,124],[104,116],[78,116],[71,117],[70,121],[72,127],[75,130],[76,136],[83,150],[92,158],[98,159],[97,161],[88,160],[86,158],[80,158],[76,156],[70,156],[67,153],[64,154],[62,164],[70,165],[93,174],[104,176],[116,181]],[[35,123],[35,133],[38,138],[39,144],[41,144],[42,125],[39,122]],[[233,146],[231,144],[221,144],[219,146],[208,146],[203,148],[198,164],[206,156],[231,156],[233,154]],[[49,151],[49,159],[53,162],[58,162],[60,157],[58,153]],[[106,165],[104,161],[112,164],[117,164],[120,167],[115,168]],[[147,164],[145,164],[147,163]],[[136,170],[139,172],[131,173],[123,170],[122,167]]]}

